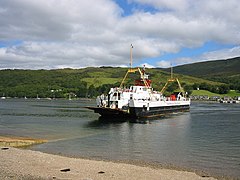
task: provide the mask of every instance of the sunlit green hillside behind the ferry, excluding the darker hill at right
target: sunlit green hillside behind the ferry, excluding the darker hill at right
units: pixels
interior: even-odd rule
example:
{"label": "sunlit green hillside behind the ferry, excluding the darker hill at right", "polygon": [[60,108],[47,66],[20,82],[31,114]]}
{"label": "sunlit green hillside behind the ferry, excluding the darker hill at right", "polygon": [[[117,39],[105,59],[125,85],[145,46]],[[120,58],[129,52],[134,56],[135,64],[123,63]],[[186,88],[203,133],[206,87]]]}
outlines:
{"label": "sunlit green hillside behind the ferry, excluding the darker hill at right", "polygon": [[[71,93],[78,97],[95,97],[108,92],[110,87],[119,86],[127,68],[118,67],[88,67],[84,69],[57,69],[57,70],[1,70],[0,97],[68,97]],[[160,69],[147,69],[152,80],[153,88],[161,90],[169,72]],[[187,75],[174,74],[179,78],[183,87],[190,92],[195,83],[220,87],[222,83],[204,80]],[[125,86],[133,84],[138,73],[130,74]],[[177,84],[170,85],[167,91],[176,89]]]}

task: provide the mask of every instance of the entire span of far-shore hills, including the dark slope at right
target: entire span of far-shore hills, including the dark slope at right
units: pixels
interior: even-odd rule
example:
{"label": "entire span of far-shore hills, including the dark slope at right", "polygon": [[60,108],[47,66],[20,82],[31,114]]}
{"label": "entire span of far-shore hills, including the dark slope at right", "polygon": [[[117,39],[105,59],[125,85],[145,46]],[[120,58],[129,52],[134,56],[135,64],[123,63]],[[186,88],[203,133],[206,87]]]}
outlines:
{"label": "entire span of far-shore hills, including the dark slope at right", "polygon": [[[146,71],[155,90],[161,90],[170,77],[169,69]],[[0,70],[0,97],[95,97],[107,93],[110,87],[119,86],[126,72],[127,68],[120,67]],[[138,77],[137,73],[130,74],[125,85],[133,84]],[[220,94],[226,94],[230,89],[240,91],[240,58],[174,67],[174,77],[181,81],[189,94],[198,88]],[[166,93],[173,92],[177,87],[177,84],[170,85]]]}

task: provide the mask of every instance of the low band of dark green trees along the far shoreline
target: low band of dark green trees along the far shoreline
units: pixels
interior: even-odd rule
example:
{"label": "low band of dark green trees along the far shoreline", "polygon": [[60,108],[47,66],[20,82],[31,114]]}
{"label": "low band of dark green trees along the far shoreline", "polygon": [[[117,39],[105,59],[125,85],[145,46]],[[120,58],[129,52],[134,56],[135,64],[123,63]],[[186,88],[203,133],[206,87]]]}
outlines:
{"label": "low band of dark green trees along the far shoreline", "polygon": [[[104,93],[107,94],[111,87],[118,87],[119,83],[116,84],[103,84],[98,87],[94,87],[94,85],[88,86],[86,82],[79,81],[76,85],[47,85],[47,84],[22,84],[13,87],[2,87],[0,86],[0,96],[7,97],[17,97],[17,98],[69,98],[71,97],[79,97],[79,98],[94,98],[98,95]],[[193,85],[183,84],[183,87],[188,95],[191,95],[192,90],[208,90],[217,94],[227,94],[230,90],[229,85],[210,85],[207,83],[195,83]],[[159,87],[160,89],[161,87]],[[169,96],[172,92],[177,91],[177,84],[171,84],[165,91],[165,95]]]}

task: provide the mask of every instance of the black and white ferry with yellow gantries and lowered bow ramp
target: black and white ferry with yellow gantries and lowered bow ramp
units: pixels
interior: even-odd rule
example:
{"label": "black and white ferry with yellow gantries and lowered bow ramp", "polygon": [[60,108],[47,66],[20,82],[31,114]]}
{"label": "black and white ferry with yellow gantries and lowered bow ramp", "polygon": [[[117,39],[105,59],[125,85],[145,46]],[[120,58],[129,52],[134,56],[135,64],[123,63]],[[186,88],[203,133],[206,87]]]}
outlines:
{"label": "black and white ferry with yellow gantries and lowered bow ramp", "polygon": [[[131,63],[130,63],[131,64]],[[139,79],[129,88],[123,87],[124,81],[129,73],[138,72]],[[179,92],[173,93],[170,97],[165,97],[163,92],[168,84],[176,81]],[[107,118],[149,118],[162,116],[166,113],[187,111],[190,108],[190,98],[186,97],[181,84],[177,78],[167,81],[161,91],[153,90],[149,75],[145,72],[145,67],[128,69],[119,87],[111,88],[108,95],[100,95],[96,99],[97,107],[87,107]]]}

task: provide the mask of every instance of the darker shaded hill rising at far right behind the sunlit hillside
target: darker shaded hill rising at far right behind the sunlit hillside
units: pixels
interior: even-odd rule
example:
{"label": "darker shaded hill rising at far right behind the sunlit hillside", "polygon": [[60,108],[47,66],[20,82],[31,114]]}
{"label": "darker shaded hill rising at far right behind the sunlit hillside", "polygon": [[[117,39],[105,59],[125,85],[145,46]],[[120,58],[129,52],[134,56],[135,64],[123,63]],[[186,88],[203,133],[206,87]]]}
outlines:
{"label": "darker shaded hill rising at far right behind the sunlit hillside", "polygon": [[240,86],[240,57],[176,66],[174,72],[226,83],[236,89]]}

